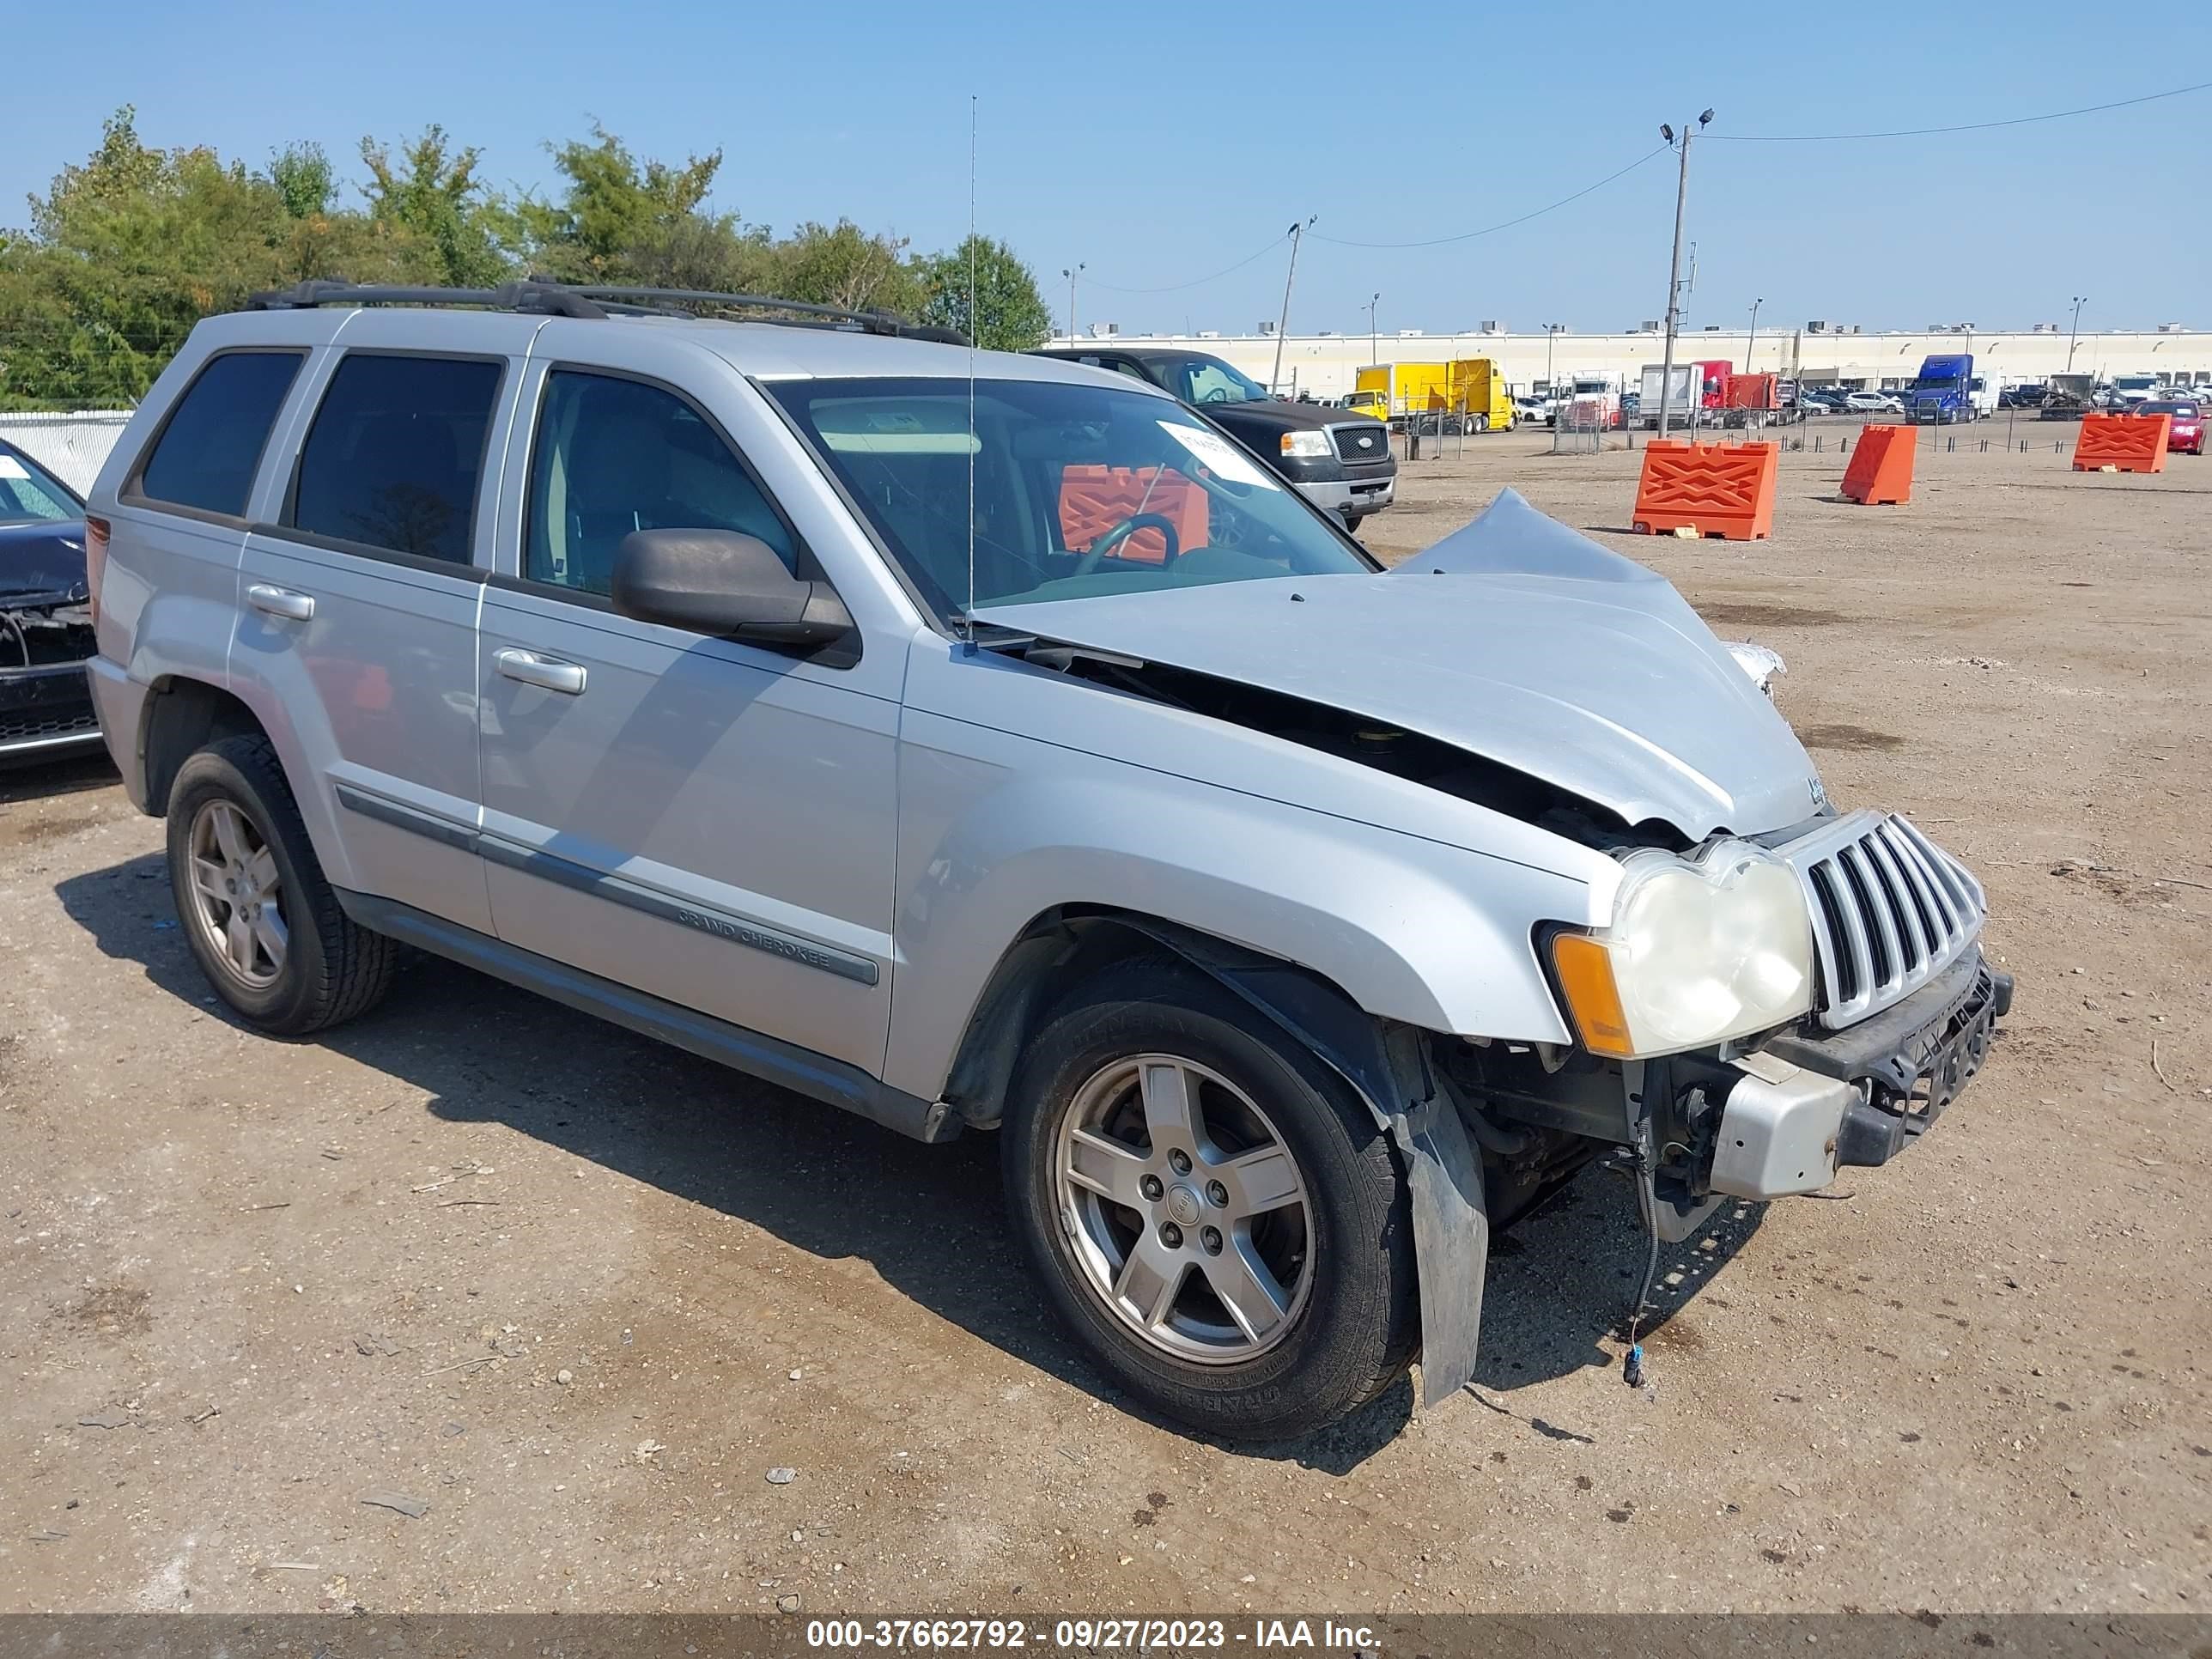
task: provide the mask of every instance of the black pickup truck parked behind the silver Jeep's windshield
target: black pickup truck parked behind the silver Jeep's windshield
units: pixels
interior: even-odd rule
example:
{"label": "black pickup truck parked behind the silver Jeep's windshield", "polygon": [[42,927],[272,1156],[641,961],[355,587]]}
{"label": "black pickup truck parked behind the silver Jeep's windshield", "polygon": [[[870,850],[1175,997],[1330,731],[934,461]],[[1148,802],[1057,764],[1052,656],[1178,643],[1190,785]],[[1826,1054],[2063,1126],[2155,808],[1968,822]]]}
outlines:
{"label": "black pickup truck parked behind the silver Jeep's windshield", "polygon": [[1035,356],[1117,369],[1172,392],[1274,467],[1314,507],[1343,513],[1347,524],[1380,513],[1398,489],[1389,427],[1380,420],[1318,403],[1285,403],[1206,352],[1099,341],[1053,345]]}

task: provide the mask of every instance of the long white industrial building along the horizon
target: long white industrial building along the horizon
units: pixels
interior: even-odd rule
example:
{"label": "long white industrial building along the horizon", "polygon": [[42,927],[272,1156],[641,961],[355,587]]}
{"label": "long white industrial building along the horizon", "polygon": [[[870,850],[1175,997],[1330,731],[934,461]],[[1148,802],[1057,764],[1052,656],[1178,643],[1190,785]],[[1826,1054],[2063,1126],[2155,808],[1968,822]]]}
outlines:
{"label": "long white industrial building along the horizon", "polygon": [[[1113,323],[1091,325],[1077,341],[1055,338],[1053,345],[1088,345],[1113,336],[1124,345],[1177,345],[1228,358],[1254,380],[1276,383],[1276,338],[1256,334],[1121,334]],[[1455,358],[1495,358],[1515,392],[1540,392],[1548,380],[1604,376],[1615,385],[1637,387],[1648,363],[1659,363],[1666,334],[1657,323],[1626,334],[1515,334],[1484,325],[1467,334],[1429,334],[1396,330],[1389,334],[1287,334],[1281,341],[1283,394],[1334,398],[1352,392],[1356,376],[1371,363],[1449,363]],[[1759,330],[1690,327],[1674,338],[1674,361],[1728,358],[1739,369],[1783,374],[1809,385],[1843,389],[1893,392],[1920,369],[1920,358],[1936,352],[1973,352],[1980,374],[1997,376],[2000,385],[2042,383],[2053,374],[2095,374],[2110,380],[2119,374],[2154,374],[2170,385],[2212,385],[2212,332],[2166,323],[2150,332],[2068,336],[2062,323],[2037,323],[2024,330],[1980,330],[1971,323],[1949,323],[1922,332],[1860,332],[1847,323],[1807,323],[1803,327]],[[2070,367],[2068,367],[2070,363]]]}

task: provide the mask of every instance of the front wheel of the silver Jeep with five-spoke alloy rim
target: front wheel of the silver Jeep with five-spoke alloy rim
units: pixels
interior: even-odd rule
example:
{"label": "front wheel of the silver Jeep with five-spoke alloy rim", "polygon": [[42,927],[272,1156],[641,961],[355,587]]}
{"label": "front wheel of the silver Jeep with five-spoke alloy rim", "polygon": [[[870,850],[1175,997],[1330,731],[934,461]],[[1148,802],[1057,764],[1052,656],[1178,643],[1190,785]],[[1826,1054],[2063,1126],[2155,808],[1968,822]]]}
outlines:
{"label": "front wheel of the silver Jeep with five-spoke alloy rim", "polygon": [[[1166,1113],[1170,1128],[1152,1139],[1144,1097],[1179,1097],[1161,1077],[1197,1102],[1194,1133]],[[1133,1206],[1064,1172],[1077,1128],[1084,1168]],[[1179,1139],[1194,1152],[1181,1166]],[[1099,1144],[1121,1150],[1102,1161]],[[1106,969],[1060,1006],[1015,1068],[1002,1155],[1053,1307],[1102,1369],[1168,1418],[1230,1440],[1296,1438],[1371,1400],[1413,1356],[1411,1208],[1389,1139],[1316,1055],[1181,962]],[[1285,1159],[1294,1199],[1281,1197]],[[1252,1261],[1267,1281],[1241,1272]],[[1214,1283],[1261,1318],[1239,1318]],[[1159,1312],[1148,1321],[1137,1303]]]}

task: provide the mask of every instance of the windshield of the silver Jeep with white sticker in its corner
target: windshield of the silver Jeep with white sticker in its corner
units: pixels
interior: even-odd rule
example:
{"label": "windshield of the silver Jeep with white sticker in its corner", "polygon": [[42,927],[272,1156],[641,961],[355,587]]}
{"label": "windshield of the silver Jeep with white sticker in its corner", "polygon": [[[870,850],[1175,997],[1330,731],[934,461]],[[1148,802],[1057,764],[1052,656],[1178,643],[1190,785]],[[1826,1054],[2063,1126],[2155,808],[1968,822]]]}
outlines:
{"label": "windshield of the silver Jeep with white sticker in its corner", "polygon": [[768,389],[940,615],[967,608],[969,489],[975,604],[1374,568],[1245,449],[1157,394],[978,380],[971,427],[967,380]]}

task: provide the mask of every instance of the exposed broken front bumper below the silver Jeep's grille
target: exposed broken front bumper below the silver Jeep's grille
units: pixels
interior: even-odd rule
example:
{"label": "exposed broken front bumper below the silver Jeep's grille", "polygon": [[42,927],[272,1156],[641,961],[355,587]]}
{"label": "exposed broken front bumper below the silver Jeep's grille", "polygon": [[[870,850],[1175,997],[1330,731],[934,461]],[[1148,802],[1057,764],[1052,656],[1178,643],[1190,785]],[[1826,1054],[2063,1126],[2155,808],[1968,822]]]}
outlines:
{"label": "exposed broken front bumper below the silver Jeep's grille", "polygon": [[2011,1006],[2013,975],[1971,949],[1869,1020],[1730,1062],[1708,1190],[1781,1199],[1887,1164],[1960,1097]]}

